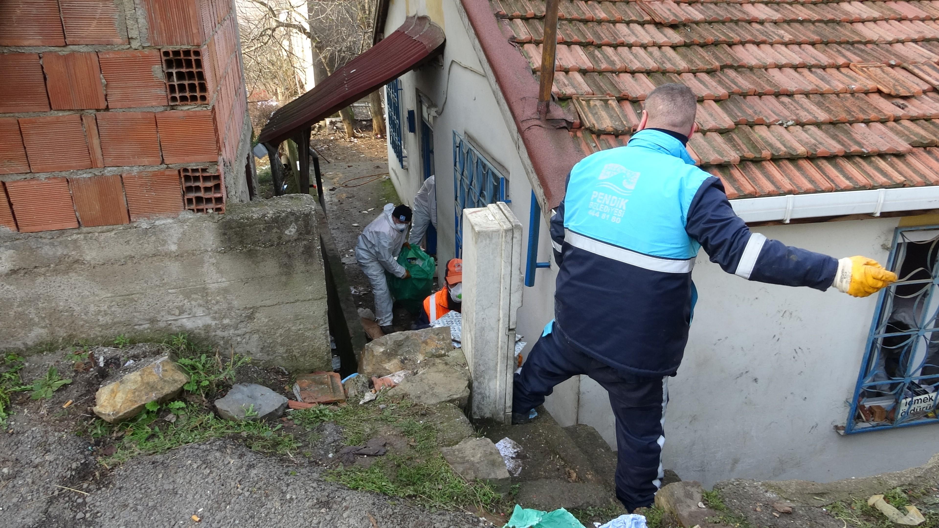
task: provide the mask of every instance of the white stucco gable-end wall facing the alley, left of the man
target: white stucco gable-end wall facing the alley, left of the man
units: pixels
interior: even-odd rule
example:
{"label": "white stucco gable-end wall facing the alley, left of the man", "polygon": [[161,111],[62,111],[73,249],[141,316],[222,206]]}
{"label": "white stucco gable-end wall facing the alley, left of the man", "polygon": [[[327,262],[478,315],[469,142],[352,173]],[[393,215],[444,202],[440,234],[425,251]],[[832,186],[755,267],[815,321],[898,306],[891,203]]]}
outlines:
{"label": "white stucco gable-end wall facing the alley, left of the man", "polygon": [[[418,91],[437,106],[439,116],[431,126],[434,129],[434,153],[437,175],[438,225],[437,243],[439,262],[454,256],[454,136],[457,132],[482,148],[485,157],[504,167],[508,180],[510,209],[523,225],[522,240],[528,241],[531,207],[531,184],[526,176],[517,145],[520,140],[503,119],[489,81],[483,74],[480,59],[473,51],[469,35],[460,20],[454,0],[395,0],[389,6],[385,34],[404,23],[409,15],[427,15],[443,27],[447,42],[442,61],[434,61],[419,70],[410,71],[401,80],[401,118],[404,147],[408,151],[407,168],[402,168],[389,144],[388,159],[394,187],[402,201],[410,205],[423,183],[421,159],[421,107]],[[408,110],[417,118],[416,132],[407,128]],[[510,132],[513,131],[513,132]],[[551,258],[551,242],[547,225],[541,221],[538,260]],[[527,245],[523,248],[527,248]],[[552,262],[553,265],[553,262]],[[442,270],[442,266],[439,267]],[[522,270],[524,273],[524,270]],[[554,312],[554,280],[556,270],[536,272],[534,287],[524,288],[523,309],[518,312],[518,334],[529,342],[528,349],[541,334]],[[527,351],[527,349],[526,349]],[[546,406],[564,426],[577,423],[577,380],[569,380],[555,390]]]}

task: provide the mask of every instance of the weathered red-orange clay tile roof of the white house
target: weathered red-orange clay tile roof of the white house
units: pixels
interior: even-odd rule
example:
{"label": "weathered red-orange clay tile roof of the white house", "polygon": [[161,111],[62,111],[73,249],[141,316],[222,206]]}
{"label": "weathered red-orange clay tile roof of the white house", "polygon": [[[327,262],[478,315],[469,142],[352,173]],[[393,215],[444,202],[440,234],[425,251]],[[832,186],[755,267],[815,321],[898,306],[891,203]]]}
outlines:
{"label": "weathered red-orange clay tile roof of the white house", "polygon": [[[545,3],[491,0],[541,66]],[[939,184],[939,0],[561,0],[554,95],[584,154],[657,85],[699,100],[691,156],[732,198]]]}

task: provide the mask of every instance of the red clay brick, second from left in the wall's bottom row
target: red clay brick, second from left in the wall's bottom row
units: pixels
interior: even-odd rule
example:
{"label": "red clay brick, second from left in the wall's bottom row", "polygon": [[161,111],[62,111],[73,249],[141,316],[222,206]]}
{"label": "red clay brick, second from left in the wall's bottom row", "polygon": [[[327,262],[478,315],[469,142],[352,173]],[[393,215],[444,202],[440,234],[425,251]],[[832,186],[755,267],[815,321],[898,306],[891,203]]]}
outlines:
{"label": "red clay brick, second from left in the wall's bottom row", "polygon": [[66,179],[18,179],[6,186],[21,232],[78,227]]}

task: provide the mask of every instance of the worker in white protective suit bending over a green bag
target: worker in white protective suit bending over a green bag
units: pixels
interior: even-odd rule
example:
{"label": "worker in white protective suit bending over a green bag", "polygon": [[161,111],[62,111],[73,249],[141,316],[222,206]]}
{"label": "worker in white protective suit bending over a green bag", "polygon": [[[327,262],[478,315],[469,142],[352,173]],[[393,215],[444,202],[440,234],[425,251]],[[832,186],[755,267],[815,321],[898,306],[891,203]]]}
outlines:
{"label": "worker in white protective suit bending over a green bag", "polygon": [[[355,259],[359,262],[362,272],[372,284],[372,293],[375,295],[375,316],[378,326],[385,334],[392,334],[392,292],[388,289],[385,272],[395,277],[407,279],[410,273],[401,264],[397,257],[401,247],[408,245],[408,224],[411,221],[411,210],[408,206],[393,204],[385,205],[381,214],[366,225],[359,235],[359,243],[355,246]],[[409,247],[409,246],[408,246]]]}

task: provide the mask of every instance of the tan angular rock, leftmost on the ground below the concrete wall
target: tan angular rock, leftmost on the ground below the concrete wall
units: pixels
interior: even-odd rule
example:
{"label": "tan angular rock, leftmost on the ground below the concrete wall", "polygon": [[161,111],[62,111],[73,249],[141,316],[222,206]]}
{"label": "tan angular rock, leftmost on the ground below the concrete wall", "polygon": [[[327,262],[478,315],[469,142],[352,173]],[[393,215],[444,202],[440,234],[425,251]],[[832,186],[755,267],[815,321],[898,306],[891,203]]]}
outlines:
{"label": "tan angular rock, leftmost on the ground below the concrete wall", "polygon": [[189,376],[173,363],[173,357],[163,354],[98,389],[93,411],[102,420],[115,424],[136,416],[151,401],[172,399],[187,382]]}

